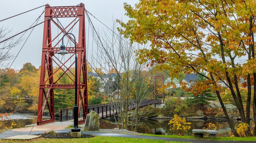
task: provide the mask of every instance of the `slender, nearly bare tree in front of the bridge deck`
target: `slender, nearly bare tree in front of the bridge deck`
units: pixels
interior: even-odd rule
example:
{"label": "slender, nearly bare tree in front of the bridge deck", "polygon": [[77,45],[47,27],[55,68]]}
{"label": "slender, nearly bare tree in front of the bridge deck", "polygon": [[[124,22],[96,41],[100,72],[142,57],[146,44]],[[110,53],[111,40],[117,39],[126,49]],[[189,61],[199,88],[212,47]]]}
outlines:
{"label": "slender, nearly bare tree in front of the bridge deck", "polygon": [[[146,65],[140,65],[135,60],[136,56],[133,51],[137,49],[135,48],[137,46],[127,43],[127,39],[123,37],[122,33],[117,32],[116,27],[117,23],[113,22],[111,30],[105,31],[104,35],[100,37],[100,43],[97,43],[99,45],[96,53],[97,56],[94,57],[94,61],[98,63],[94,63],[94,67],[101,65],[100,68],[105,73],[111,73],[109,76],[101,76],[102,81],[104,81],[104,87],[106,87],[105,91],[109,89],[107,92],[111,92],[107,100],[112,104],[112,109],[116,110],[118,114],[119,120],[115,118],[117,127],[121,124],[122,128],[127,129],[129,105],[134,100],[138,100],[136,103],[138,112],[135,112],[136,115],[134,116],[133,124],[136,126],[140,119],[138,115],[139,104],[143,99],[152,99],[153,97],[153,92],[147,92],[149,90],[146,88],[149,86],[149,83],[152,84],[154,78],[142,78],[139,76],[148,74],[146,72]],[[104,62],[100,63],[100,60],[96,59],[103,59]],[[147,93],[144,94],[144,91]],[[149,97],[150,95],[151,97]],[[123,109],[123,112],[118,112],[118,108],[120,110]],[[143,111],[140,112],[140,115],[144,113]]]}

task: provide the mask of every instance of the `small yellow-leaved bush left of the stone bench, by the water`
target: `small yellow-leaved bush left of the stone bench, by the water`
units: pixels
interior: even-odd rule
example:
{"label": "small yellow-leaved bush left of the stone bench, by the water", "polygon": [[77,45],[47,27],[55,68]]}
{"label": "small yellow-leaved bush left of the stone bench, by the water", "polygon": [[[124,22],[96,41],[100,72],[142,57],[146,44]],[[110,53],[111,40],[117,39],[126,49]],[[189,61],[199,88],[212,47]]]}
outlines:
{"label": "small yellow-leaved bush left of the stone bench, by the water", "polygon": [[169,121],[168,125],[170,125],[170,131],[176,131],[179,135],[184,135],[185,132],[187,132],[191,126],[189,126],[191,123],[186,122],[186,119],[181,118],[178,115],[174,115],[174,118]]}

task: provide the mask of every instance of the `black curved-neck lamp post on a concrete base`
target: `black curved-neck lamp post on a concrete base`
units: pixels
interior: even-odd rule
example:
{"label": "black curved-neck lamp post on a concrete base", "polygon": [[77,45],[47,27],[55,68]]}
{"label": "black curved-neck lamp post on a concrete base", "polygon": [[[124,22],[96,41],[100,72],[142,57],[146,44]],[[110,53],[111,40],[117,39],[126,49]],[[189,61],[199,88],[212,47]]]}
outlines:
{"label": "black curved-neck lamp post on a concrete base", "polygon": [[[61,55],[68,54],[68,52],[65,50],[65,45],[63,44],[63,38],[67,34],[73,35],[72,33],[66,33],[63,35],[62,45],[60,46],[60,51],[58,52],[58,54],[61,54]],[[74,36],[74,40],[75,40],[75,36]],[[74,106],[74,128],[71,129],[71,136],[74,135],[74,134],[72,135],[72,133],[76,134],[77,132],[79,132],[78,134],[74,135],[73,137],[81,137],[81,132],[80,132],[80,129],[78,128],[77,77],[76,76],[77,76],[77,56],[76,56],[76,42],[75,42],[75,106]]]}

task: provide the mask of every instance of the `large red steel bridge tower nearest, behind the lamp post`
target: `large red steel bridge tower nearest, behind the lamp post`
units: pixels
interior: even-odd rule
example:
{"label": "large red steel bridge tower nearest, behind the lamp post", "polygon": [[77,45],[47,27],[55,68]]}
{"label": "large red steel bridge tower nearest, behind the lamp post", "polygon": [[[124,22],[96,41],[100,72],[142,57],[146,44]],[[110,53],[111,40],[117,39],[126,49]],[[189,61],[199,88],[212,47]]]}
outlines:
{"label": "large red steel bridge tower nearest, behind the lamp post", "polygon": [[[73,18],[73,21],[63,27],[59,24],[58,18]],[[57,36],[53,36],[53,29],[51,29],[51,24],[57,27]],[[66,23],[65,23],[66,24]],[[52,26],[53,26],[52,25]],[[77,29],[78,27],[78,29]],[[76,44],[77,51],[77,87],[75,87],[74,77],[75,73],[72,72],[72,66],[75,66],[75,46],[66,47],[66,51],[70,53],[70,57],[67,61],[62,61],[61,57],[58,57],[57,52],[60,50],[58,47],[59,43],[61,45],[61,38],[63,34],[72,32],[73,29],[78,31],[76,39],[78,43],[74,42],[74,39],[67,35],[66,37],[72,43],[70,45]],[[66,54],[67,55],[67,54]],[[69,61],[69,62],[68,62]],[[69,63],[69,66],[66,64]],[[53,70],[53,65],[54,70]],[[57,67],[57,69],[55,68]],[[62,75],[56,76],[57,73],[63,73]],[[63,76],[67,76],[72,81],[71,84],[59,84],[58,81]],[[84,4],[77,6],[67,6],[67,7],[50,7],[46,5],[45,7],[45,22],[44,22],[44,32],[43,32],[43,47],[42,47],[42,62],[41,62],[41,77],[40,77],[40,87],[39,87],[39,99],[38,99],[38,118],[37,125],[54,122],[54,89],[75,89],[77,88],[77,105],[78,105],[78,117],[79,111],[83,111],[83,119],[78,121],[78,124],[85,122],[85,117],[88,114],[88,101],[87,101],[87,73],[86,73],[86,48],[85,48],[85,9]],[[75,93],[74,93],[75,98]],[[50,119],[42,120],[43,113],[46,109],[49,110]]]}

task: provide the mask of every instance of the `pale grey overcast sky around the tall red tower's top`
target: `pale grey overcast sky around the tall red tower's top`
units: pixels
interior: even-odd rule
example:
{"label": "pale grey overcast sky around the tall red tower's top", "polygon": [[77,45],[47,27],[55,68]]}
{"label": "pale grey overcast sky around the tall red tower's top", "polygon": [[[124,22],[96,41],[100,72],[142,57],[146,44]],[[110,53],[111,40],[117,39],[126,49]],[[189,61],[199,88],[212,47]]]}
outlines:
{"label": "pale grey overcast sky around the tall red tower's top", "polygon": [[[92,13],[97,19],[101,22],[106,24],[107,26],[111,27],[113,24],[112,18],[118,18],[123,21],[127,21],[128,18],[124,16],[125,11],[123,8],[123,3],[127,2],[134,6],[139,0],[97,0],[97,1],[78,1],[78,0],[52,0],[52,1],[45,1],[45,0],[5,0],[1,1],[1,8],[0,8],[0,20],[11,17],[13,15],[31,10],[33,8],[40,7],[45,4],[49,4],[50,6],[75,6],[79,3],[83,3],[85,5],[86,10]],[[27,28],[41,15],[44,7],[38,8],[31,12],[19,15],[17,17],[5,20],[0,22],[0,26],[8,27],[12,29],[10,36],[15,35]],[[44,14],[40,18],[39,22],[43,22]],[[90,17],[93,20],[93,17]],[[86,21],[87,18],[85,19]],[[38,22],[38,23],[39,23]],[[86,22],[88,24],[88,22]],[[99,24],[95,20],[93,24],[96,28],[100,30],[106,29],[104,25]],[[88,25],[85,26],[86,29]],[[25,39],[28,37],[30,31],[25,34]],[[86,35],[88,36],[88,35]],[[89,35],[90,36],[90,35]],[[17,36],[19,38],[20,36]],[[42,55],[42,39],[43,39],[43,24],[36,26],[32,31],[31,36],[29,37],[28,41],[25,43],[24,47],[22,48],[20,54],[17,56],[16,60],[14,61],[11,68],[15,70],[19,70],[22,68],[24,63],[30,62],[36,68],[41,65],[41,55]],[[78,39],[78,38],[77,38]],[[23,40],[18,46],[13,48],[11,52],[13,54],[17,54],[20,48],[22,47],[25,40]],[[89,47],[88,47],[89,48]],[[88,52],[91,53],[91,49],[88,49]]]}

